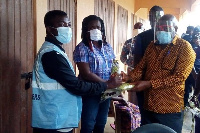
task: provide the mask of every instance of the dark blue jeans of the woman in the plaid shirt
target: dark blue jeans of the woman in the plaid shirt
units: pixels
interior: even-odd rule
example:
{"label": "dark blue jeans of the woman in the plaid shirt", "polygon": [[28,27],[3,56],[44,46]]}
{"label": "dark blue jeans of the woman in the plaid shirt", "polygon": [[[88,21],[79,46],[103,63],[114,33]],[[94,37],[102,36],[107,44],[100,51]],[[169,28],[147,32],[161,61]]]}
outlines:
{"label": "dark blue jeans of the woman in the plaid shirt", "polygon": [[104,133],[110,99],[103,102],[101,96],[83,97],[80,133]]}

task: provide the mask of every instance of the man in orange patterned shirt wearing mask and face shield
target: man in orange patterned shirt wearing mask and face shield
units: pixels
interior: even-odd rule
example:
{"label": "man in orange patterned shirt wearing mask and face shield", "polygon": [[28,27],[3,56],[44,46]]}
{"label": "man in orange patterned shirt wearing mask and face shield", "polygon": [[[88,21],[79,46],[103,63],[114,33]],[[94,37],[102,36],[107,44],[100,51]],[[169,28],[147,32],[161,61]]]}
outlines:
{"label": "man in orange patterned shirt wearing mask and face shield", "polygon": [[181,133],[184,85],[193,68],[195,52],[176,35],[177,20],[173,15],[162,16],[155,27],[155,40],[125,79],[135,84],[132,91],[144,91],[145,124],[160,123]]}

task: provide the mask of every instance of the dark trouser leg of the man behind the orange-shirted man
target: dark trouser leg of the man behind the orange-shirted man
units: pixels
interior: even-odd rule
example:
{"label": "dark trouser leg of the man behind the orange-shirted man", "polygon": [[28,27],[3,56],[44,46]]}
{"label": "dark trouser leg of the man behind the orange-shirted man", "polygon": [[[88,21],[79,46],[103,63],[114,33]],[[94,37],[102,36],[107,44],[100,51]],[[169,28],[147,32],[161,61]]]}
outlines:
{"label": "dark trouser leg of the man behind the orange-shirted man", "polygon": [[144,92],[136,92],[137,95],[137,101],[138,101],[138,107],[140,109],[140,114],[141,114],[141,126],[144,125]]}

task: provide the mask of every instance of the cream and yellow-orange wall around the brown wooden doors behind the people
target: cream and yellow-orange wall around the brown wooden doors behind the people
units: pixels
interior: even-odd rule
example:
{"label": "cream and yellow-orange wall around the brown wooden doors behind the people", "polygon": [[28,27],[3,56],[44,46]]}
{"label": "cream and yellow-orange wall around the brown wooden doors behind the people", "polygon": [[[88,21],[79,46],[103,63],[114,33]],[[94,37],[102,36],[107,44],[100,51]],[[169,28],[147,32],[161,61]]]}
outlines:
{"label": "cream and yellow-orange wall around the brown wooden doors behind the people", "polygon": [[[161,2],[160,0],[155,0],[154,2],[149,0],[114,0],[115,1],[115,37],[117,37],[117,7],[118,5],[122,6],[126,10],[128,10],[128,31],[127,31],[127,38],[131,38],[131,13],[135,13],[138,18],[142,18],[148,21],[148,11],[150,7],[153,5],[160,5],[164,7],[165,13],[172,13],[174,14],[177,19],[180,18],[180,21],[187,20],[188,12],[190,9],[194,9],[196,5],[198,5],[200,0],[177,0],[172,1],[169,0],[168,2]],[[191,7],[191,3],[194,2],[193,6]],[[179,3],[179,4],[178,4]],[[170,6],[169,6],[170,5]],[[81,41],[81,24],[84,17],[94,14],[94,0],[77,0],[77,38],[76,42]],[[181,10],[179,8],[182,7]],[[187,9],[187,10],[185,10]],[[40,48],[42,43],[44,42],[45,27],[43,24],[43,16],[47,12],[47,0],[35,0],[35,10],[36,12],[36,42],[37,42],[37,50]],[[180,16],[178,13],[181,13]],[[116,39],[114,39],[114,45],[117,45]]]}

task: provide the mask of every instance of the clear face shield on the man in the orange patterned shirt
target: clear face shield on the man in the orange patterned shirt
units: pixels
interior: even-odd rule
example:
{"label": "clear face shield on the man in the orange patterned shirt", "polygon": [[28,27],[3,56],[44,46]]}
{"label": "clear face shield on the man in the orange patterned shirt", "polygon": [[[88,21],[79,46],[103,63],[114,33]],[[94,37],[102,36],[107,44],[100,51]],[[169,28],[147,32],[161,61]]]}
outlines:
{"label": "clear face shield on the man in the orange patterned shirt", "polygon": [[175,36],[174,23],[172,21],[158,21],[155,25],[154,42],[167,45],[172,42]]}

